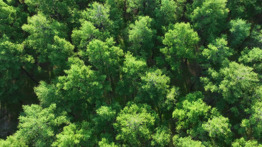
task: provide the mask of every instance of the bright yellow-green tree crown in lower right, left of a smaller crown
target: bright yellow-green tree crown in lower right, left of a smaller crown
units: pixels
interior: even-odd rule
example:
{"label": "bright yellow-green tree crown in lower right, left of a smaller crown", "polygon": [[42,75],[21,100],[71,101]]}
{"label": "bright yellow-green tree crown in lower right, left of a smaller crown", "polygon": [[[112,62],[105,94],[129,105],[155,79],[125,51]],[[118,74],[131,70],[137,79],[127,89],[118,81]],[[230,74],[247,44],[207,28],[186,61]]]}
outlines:
{"label": "bright yellow-green tree crown in lower right, left of a smaller crown", "polygon": [[210,106],[202,100],[204,96],[201,92],[196,92],[194,94],[188,94],[186,99],[181,103],[178,103],[175,111],[173,112],[173,118],[177,119],[176,130],[179,132],[181,129],[190,128],[196,129],[201,122],[206,120],[208,116],[208,111],[211,109]]}

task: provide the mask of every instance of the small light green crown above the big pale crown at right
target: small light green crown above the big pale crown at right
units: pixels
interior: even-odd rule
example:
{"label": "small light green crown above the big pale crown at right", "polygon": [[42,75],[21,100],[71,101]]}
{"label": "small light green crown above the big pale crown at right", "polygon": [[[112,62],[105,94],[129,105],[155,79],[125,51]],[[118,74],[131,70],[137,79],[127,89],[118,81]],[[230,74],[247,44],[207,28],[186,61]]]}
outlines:
{"label": "small light green crown above the big pale crown at right", "polygon": [[233,54],[233,49],[227,47],[228,42],[225,38],[217,38],[213,43],[210,43],[207,49],[204,49],[202,54],[210,62],[214,64],[222,64],[222,62]]}

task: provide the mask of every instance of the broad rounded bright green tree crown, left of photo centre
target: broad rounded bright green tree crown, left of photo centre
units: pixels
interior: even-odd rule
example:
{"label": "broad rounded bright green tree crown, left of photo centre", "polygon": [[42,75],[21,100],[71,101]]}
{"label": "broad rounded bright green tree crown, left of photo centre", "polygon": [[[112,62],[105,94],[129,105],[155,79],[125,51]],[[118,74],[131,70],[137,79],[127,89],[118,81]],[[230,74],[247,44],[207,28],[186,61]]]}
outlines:
{"label": "broad rounded bright green tree crown, left of photo centre", "polygon": [[66,70],[65,73],[66,76],[58,77],[57,84],[57,87],[65,92],[65,99],[74,103],[79,98],[84,98],[84,101],[93,103],[103,95],[105,75],[92,71],[83,61],[72,64],[70,70]]}

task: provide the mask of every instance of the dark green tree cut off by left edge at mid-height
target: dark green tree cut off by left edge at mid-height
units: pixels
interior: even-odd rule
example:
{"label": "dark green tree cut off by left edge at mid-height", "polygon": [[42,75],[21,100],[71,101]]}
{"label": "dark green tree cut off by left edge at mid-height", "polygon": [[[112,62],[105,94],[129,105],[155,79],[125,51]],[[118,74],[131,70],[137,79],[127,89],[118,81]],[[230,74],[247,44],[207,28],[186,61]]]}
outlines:
{"label": "dark green tree cut off by left edge at mid-height", "polygon": [[33,62],[34,59],[26,54],[23,45],[11,43],[5,35],[0,39],[1,100],[10,97],[8,95],[14,94],[15,91],[20,89],[25,82],[23,78],[26,78],[21,73],[30,68]]}

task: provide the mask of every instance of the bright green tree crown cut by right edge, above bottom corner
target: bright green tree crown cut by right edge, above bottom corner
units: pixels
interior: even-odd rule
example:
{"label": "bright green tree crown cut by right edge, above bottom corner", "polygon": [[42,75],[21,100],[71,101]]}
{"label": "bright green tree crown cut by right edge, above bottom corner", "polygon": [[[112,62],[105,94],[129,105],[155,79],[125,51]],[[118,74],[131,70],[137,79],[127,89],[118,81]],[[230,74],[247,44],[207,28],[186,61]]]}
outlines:
{"label": "bright green tree crown cut by right edge, above bottom corner", "polygon": [[[260,89],[261,90],[261,89]],[[251,109],[247,108],[245,110],[248,114],[250,114],[249,119],[243,119],[240,124],[241,127],[246,130],[251,129],[252,135],[258,140],[262,138],[262,102],[257,101],[252,106]]]}

